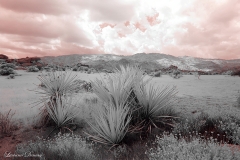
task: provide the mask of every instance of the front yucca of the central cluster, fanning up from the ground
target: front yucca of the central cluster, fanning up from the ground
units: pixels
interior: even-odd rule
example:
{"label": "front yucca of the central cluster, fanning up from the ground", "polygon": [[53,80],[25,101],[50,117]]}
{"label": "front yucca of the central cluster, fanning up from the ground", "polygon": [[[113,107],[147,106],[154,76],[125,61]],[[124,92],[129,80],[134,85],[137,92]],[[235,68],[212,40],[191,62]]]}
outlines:
{"label": "front yucca of the central cluster, fanning up from the ground", "polygon": [[99,143],[118,145],[128,132],[131,121],[130,107],[124,102],[117,106],[111,102],[104,103],[101,107],[96,108],[94,120],[96,125],[87,123],[98,135],[90,135],[90,137]]}

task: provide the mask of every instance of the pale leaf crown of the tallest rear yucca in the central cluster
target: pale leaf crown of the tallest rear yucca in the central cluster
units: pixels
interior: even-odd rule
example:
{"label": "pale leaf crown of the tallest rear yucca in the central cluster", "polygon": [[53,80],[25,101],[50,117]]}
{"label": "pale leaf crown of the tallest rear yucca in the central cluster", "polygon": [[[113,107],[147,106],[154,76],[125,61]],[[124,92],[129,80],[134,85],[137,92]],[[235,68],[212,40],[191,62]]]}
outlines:
{"label": "pale leaf crown of the tallest rear yucca in the central cluster", "polygon": [[115,73],[108,74],[107,80],[96,79],[93,90],[103,102],[113,102],[115,105],[126,101],[133,91],[135,82],[147,83],[143,80],[143,71],[136,66],[120,66],[120,70],[115,69]]}

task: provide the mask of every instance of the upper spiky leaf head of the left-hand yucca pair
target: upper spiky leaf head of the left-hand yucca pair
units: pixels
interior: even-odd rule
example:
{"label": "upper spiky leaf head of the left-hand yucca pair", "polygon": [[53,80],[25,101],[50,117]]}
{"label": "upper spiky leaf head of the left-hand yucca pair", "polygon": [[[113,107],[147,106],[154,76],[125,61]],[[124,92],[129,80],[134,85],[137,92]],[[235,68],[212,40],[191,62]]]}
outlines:
{"label": "upper spiky leaf head of the left-hand yucca pair", "polygon": [[40,91],[36,91],[42,95],[40,103],[49,101],[51,98],[59,96],[73,94],[78,88],[78,84],[74,83],[76,75],[72,76],[68,72],[51,72],[49,76],[41,75],[38,79],[45,87],[41,87]]}

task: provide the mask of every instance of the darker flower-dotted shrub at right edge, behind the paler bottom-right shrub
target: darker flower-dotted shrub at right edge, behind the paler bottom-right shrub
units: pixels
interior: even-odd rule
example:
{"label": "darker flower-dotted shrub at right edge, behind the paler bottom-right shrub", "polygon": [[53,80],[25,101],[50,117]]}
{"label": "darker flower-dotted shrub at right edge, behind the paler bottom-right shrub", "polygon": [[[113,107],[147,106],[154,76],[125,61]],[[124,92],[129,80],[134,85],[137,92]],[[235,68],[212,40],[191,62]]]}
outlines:
{"label": "darker flower-dotted shrub at right edge, behind the paler bottom-right shrub", "polygon": [[240,120],[226,114],[211,117],[202,113],[196,118],[183,118],[172,133],[180,134],[186,139],[199,134],[204,139],[213,137],[221,143],[240,144]]}

